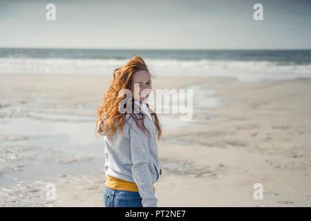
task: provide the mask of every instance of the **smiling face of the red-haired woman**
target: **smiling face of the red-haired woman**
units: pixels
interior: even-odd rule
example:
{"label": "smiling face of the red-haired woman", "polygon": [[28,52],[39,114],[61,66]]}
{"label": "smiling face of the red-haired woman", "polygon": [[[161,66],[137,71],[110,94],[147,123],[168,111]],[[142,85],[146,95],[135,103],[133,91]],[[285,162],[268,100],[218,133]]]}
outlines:
{"label": "smiling face of the red-haired woman", "polygon": [[139,70],[134,73],[131,92],[135,100],[142,102],[149,97],[151,91],[151,79],[146,70]]}

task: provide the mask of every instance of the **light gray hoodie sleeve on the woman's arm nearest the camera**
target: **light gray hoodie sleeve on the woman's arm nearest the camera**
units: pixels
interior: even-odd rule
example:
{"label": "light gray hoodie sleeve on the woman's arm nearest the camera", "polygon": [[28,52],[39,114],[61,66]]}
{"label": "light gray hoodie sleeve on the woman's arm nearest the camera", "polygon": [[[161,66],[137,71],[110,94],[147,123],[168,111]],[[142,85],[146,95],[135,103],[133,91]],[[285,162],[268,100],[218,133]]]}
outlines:
{"label": "light gray hoodie sleeve on the woman's arm nearest the camera", "polygon": [[[133,122],[135,124],[135,122]],[[132,124],[132,125],[133,125]],[[134,130],[134,128],[135,130]],[[133,166],[131,168],[133,180],[138,186],[142,206],[156,207],[158,199],[153,191],[151,172],[149,170],[149,144],[147,135],[137,126],[129,128],[129,137],[131,140],[131,159]]]}

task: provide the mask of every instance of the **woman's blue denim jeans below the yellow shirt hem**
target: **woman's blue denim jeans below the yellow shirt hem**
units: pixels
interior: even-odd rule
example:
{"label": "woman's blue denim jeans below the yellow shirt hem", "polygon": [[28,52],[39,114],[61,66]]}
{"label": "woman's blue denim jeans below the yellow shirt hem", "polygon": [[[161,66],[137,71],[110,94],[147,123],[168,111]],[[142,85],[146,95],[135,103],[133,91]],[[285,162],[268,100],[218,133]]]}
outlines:
{"label": "woman's blue denim jeans below the yellow shirt hem", "polygon": [[142,207],[142,198],[139,192],[118,191],[105,186],[104,207]]}

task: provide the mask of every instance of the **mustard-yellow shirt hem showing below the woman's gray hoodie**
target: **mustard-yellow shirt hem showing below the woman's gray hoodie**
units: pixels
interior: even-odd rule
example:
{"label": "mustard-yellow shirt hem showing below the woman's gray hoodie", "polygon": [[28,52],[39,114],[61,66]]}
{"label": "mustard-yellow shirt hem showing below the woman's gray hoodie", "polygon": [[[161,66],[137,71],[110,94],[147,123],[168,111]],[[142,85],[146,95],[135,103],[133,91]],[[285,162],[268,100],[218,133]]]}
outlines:
{"label": "mustard-yellow shirt hem showing below the woman's gray hoodie", "polygon": [[[138,186],[135,184],[135,182],[121,180],[116,177],[111,177],[110,175],[107,175],[105,186],[111,189],[119,190],[119,191],[138,192]],[[155,191],[154,186],[153,186],[153,191]]]}

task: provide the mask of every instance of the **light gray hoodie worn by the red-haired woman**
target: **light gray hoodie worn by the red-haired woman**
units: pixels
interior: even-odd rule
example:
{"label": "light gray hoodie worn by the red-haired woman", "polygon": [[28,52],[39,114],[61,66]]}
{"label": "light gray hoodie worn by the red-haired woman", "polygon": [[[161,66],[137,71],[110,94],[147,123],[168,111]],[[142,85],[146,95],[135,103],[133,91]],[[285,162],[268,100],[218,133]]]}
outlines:
{"label": "light gray hoodie worn by the red-haired woman", "polygon": [[[138,128],[129,113],[126,113],[126,121],[129,124],[124,124],[123,137],[121,131],[117,131],[112,136],[112,142],[111,138],[108,139],[104,134],[105,178],[107,179],[107,175],[110,175],[135,182],[142,198],[142,206],[156,207],[158,199],[153,191],[153,183],[158,182],[160,175],[156,140],[158,129],[149,113],[146,113],[146,109],[142,109],[142,112],[144,113],[144,126],[148,129],[150,136]],[[104,120],[102,128],[104,128]]]}

